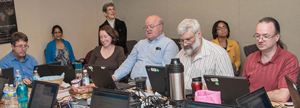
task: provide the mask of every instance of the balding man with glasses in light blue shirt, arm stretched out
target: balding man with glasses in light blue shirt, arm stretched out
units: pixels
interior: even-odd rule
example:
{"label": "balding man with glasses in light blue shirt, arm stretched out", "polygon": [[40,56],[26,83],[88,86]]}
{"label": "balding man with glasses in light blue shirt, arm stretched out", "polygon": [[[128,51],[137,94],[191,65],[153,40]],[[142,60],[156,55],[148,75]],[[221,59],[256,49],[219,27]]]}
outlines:
{"label": "balding man with glasses in light blue shirt, arm stretched out", "polygon": [[146,39],[140,40],[133,48],[127,59],[112,75],[114,81],[120,80],[131,71],[131,79],[146,76],[147,86],[150,81],[146,65],[165,66],[178,53],[176,43],[163,33],[163,21],[157,15],[149,16],[145,21]]}

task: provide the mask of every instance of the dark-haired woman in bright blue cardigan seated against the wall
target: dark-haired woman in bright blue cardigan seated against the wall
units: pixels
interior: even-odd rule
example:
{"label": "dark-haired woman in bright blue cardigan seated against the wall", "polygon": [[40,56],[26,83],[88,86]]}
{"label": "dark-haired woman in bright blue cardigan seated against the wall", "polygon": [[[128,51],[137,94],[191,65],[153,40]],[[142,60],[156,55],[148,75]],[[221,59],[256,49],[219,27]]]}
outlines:
{"label": "dark-haired woman in bright blue cardigan seated against the wall", "polygon": [[52,27],[53,41],[47,44],[45,50],[46,63],[61,61],[62,65],[75,63],[75,57],[71,44],[64,40],[63,30],[59,25]]}

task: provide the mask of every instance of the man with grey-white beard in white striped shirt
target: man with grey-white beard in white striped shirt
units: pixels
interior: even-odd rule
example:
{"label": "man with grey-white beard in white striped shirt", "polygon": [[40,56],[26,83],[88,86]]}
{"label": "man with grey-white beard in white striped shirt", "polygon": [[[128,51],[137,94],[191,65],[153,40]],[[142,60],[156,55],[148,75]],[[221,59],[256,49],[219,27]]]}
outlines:
{"label": "man with grey-white beard in white striped shirt", "polygon": [[192,89],[192,78],[203,75],[234,75],[228,53],[224,48],[201,36],[200,24],[196,19],[184,19],[177,27],[182,49],[176,55],[184,65],[185,89]]}

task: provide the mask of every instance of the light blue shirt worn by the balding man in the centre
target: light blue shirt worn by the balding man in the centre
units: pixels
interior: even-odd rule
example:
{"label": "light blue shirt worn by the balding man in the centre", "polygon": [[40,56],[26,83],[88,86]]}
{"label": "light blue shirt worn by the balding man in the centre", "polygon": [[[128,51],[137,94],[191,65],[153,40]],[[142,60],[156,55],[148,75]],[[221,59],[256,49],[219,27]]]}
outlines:
{"label": "light blue shirt worn by the balding man in the centre", "polygon": [[113,76],[116,80],[119,80],[131,71],[131,79],[138,76],[146,76],[147,86],[150,86],[145,66],[165,66],[170,64],[171,59],[177,53],[178,46],[173,40],[165,37],[164,33],[152,42],[149,39],[140,40]]}

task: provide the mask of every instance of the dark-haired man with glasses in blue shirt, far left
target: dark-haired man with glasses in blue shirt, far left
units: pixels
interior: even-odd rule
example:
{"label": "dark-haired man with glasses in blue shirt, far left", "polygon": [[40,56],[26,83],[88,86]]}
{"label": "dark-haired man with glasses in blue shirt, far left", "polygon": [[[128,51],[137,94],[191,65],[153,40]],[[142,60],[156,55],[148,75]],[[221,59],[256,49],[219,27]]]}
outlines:
{"label": "dark-haired man with glasses in blue shirt, far left", "polygon": [[32,83],[29,79],[32,79],[33,68],[35,65],[38,65],[38,62],[34,57],[26,54],[26,51],[29,48],[27,42],[28,38],[24,33],[13,33],[11,35],[12,51],[0,60],[0,68],[5,69],[13,67],[14,74],[16,74],[16,70],[19,70],[23,83],[29,85]]}

